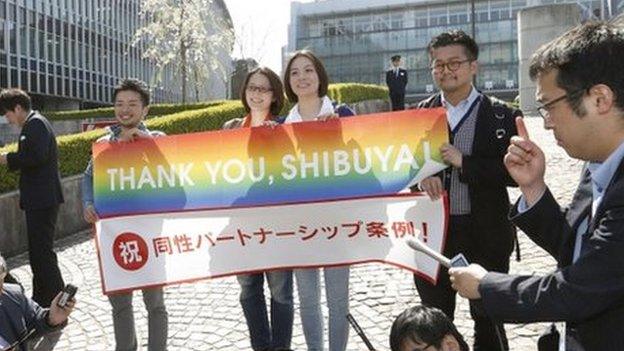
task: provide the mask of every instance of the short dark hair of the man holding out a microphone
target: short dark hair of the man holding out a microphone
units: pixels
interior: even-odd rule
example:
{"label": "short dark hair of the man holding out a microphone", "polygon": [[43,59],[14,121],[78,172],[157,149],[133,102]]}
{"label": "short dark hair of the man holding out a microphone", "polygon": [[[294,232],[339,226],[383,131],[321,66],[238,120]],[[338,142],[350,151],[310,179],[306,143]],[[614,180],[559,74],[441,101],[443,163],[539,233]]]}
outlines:
{"label": "short dark hair of the man holding out a microphone", "polygon": [[624,28],[596,21],[577,26],[542,45],[531,57],[529,76],[557,70],[557,85],[568,94],[572,110],[584,116],[581,101],[596,84],[609,86],[624,111]]}

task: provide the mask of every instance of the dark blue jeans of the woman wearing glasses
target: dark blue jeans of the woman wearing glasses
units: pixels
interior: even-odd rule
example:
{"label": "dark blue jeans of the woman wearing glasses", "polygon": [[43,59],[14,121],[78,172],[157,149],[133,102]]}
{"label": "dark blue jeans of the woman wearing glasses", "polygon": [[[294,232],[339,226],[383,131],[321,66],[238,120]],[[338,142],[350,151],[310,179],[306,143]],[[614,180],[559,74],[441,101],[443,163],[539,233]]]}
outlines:
{"label": "dark blue jeans of the woman wearing glasses", "polygon": [[[271,290],[271,323],[264,298],[264,277]],[[294,319],[292,271],[245,274],[236,277],[241,286],[240,303],[254,350],[290,349]]]}

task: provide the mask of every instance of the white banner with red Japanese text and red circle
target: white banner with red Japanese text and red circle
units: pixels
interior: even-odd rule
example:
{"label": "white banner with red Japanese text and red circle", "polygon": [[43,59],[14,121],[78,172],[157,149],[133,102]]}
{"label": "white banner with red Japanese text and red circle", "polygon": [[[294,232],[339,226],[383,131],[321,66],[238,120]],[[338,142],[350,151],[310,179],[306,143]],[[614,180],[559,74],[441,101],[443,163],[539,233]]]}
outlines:
{"label": "white banner with red Japanese text and red circle", "polygon": [[398,194],[102,219],[96,244],[105,294],[265,270],[383,262],[435,282],[446,201]]}

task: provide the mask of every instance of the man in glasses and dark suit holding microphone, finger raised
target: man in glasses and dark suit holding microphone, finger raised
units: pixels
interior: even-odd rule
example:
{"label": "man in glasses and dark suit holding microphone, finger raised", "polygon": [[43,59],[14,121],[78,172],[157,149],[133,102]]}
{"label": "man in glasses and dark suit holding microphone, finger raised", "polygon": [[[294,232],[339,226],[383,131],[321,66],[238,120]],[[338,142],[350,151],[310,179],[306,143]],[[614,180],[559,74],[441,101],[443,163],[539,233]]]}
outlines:
{"label": "man in glasses and dark suit holding microphone, finger raised", "polygon": [[453,286],[509,322],[565,321],[568,350],[624,350],[624,30],[586,23],[542,46],[529,74],[544,127],[588,161],[570,207],[544,182],[545,157],[521,120],[505,165],[522,191],[511,218],[558,264],[550,274],[452,269]]}

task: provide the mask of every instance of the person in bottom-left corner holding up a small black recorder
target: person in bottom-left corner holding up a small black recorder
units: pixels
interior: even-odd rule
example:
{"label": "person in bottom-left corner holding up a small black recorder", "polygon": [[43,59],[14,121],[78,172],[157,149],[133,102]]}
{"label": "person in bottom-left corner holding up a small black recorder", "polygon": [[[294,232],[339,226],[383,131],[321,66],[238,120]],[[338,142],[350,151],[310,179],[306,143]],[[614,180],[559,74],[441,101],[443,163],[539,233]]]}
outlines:
{"label": "person in bottom-left corner holding up a small black recorder", "polygon": [[27,338],[51,333],[67,324],[75,300],[71,299],[65,307],[59,307],[59,293],[49,309],[41,308],[24,296],[19,285],[4,283],[7,273],[6,262],[0,256],[0,350],[16,347],[25,351]]}

